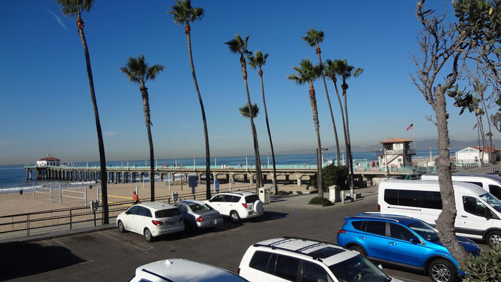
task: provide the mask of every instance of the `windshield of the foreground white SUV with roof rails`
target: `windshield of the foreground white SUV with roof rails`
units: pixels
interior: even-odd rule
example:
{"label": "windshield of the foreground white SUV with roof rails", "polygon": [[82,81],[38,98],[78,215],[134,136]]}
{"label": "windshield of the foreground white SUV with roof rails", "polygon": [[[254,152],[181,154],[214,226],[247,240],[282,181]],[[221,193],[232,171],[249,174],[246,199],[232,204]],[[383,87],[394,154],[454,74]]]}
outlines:
{"label": "windshield of the foreground white SUV with roof rails", "polygon": [[330,271],[341,282],[388,282],[388,277],[378,266],[365,257],[357,255],[338,264],[329,266]]}

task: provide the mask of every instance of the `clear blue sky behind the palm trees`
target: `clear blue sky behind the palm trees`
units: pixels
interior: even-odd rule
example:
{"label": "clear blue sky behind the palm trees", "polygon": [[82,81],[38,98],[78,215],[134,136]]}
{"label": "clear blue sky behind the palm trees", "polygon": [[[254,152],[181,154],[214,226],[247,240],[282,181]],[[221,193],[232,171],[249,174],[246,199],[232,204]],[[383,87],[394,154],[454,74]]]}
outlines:
{"label": "clear blue sky behind the palm trees", "polygon": [[[438,11],[443,4],[436,1]],[[166,68],[147,82],[152,135],[159,159],[204,156],[204,135],[194,92],[183,27],[167,13],[174,1],[95,1],[84,13],[85,34],[104,133],[106,159],[144,159],[148,142],[138,85],[119,69],[129,56],[144,54]],[[205,16],[192,24],[192,51],[204,99],[211,154],[253,153],[238,57],[224,42],[249,35],[249,50],[269,53],[264,66],[266,102],[276,152],[316,147],[307,85],[287,80],[301,59],[317,57],[302,41],[310,27],[325,32],[322,59],[347,59],[364,68],[349,81],[350,132],[354,145],[387,137],[435,138],[424,118],[433,114],[409,73],[415,67],[419,23],[415,1],[192,1]],[[428,3],[427,3],[428,4]],[[56,1],[0,1],[0,164],[34,163],[47,152],[63,161],[99,159],[82,43],[75,18]],[[269,151],[261,89],[249,71],[261,154]],[[315,83],[323,146],[334,135],[321,80]],[[328,80],[331,94],[333,84]],[[342,145],[339,106],[331,96]],[[450,137],[475,140],[474,116],[457,116],[450,104]],[[496,133],[495,133],[496,134]],[[495,136],[497,137],[497,136]]]}

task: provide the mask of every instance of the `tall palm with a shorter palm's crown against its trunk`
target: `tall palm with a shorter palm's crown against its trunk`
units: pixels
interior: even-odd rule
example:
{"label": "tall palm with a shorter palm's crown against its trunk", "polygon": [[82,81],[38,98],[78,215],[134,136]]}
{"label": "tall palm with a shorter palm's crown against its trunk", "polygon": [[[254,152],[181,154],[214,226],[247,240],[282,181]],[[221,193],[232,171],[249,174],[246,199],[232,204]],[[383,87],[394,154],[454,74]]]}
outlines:
{"label": "tall palm with a shorter palm's crown against its trunk", "polygon": [[262,179],[261,159],[259,159],[259,144],[257,142],[256,127],[254,126],[254,116],[251,111],[252,104],[250,101],[249,85],[247,84],[247,62],[245,61],[245,56],[252,54],[252,52],[247,50],[247,40],[249,40],[249,35],[247,35],[245,39],[242,39],[240,35],[236,34],[235,39],[231,39],[230,41],[225,42],[225,44],[228,45],[232,53],[240,55],[240,66],[242,66],[242,77],[244,78],[245,92],[247,94],[247,107],[249,108],[250,113],[249,119],[251,123],[252,139],[254,140],[254,159],[256,160],[256,193],[258,193],[259,188],[261,188]]}

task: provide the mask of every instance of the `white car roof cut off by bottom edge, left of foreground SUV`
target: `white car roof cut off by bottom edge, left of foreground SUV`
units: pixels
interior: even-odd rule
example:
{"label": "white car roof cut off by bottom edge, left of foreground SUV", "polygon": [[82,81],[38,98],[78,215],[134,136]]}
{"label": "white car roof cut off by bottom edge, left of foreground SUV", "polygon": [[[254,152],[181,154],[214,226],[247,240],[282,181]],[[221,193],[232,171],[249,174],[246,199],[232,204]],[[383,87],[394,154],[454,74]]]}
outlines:
{"label": "white car roof cut off by bottom edge, left of foreground SUV", "polygon": [[248,282],[226,269],[187,259],[164,259],[136,269],[130,282]]}

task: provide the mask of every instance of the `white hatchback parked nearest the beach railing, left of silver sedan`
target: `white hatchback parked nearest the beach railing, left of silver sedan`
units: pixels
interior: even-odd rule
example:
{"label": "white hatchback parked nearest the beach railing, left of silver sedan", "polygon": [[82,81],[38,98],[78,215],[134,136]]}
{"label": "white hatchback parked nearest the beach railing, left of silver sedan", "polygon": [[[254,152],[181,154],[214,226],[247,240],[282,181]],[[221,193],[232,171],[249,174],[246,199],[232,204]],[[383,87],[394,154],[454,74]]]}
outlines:
{"label": "white hatchback parked nearest the beach railing, left of silver sedan", "polygon": [[178,207],[163,202],[135,204],[116,218],[118,231],[144,235],[150,242],[154,237],[185,230]]}

